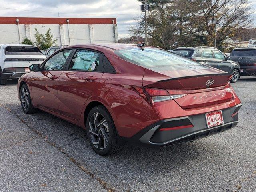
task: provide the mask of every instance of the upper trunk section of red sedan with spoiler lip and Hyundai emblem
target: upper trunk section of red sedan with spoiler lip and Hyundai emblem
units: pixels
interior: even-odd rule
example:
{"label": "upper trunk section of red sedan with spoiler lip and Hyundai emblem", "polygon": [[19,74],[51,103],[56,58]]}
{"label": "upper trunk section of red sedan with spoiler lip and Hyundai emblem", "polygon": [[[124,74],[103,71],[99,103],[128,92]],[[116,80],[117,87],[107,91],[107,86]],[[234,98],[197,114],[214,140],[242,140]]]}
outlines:
{"label": "upper trunk section of red sedan with spoiler lip and Hyundai emblem", "polygon": [[210,67],[158,72],[146,68],[142,84],[146,87],[173,90],[178,94],[182,91],[226,86],[232,75]]}

